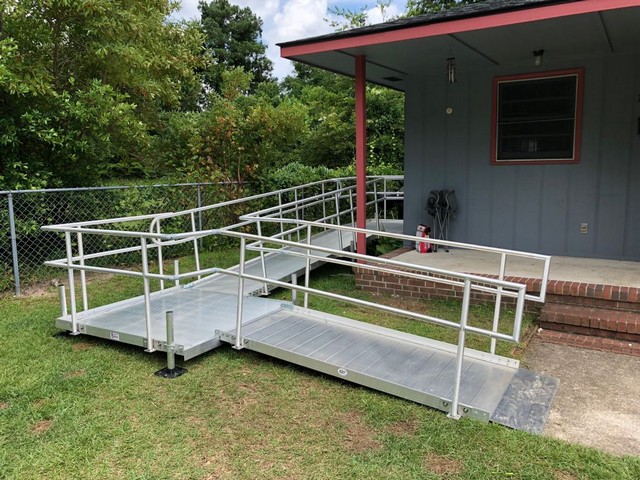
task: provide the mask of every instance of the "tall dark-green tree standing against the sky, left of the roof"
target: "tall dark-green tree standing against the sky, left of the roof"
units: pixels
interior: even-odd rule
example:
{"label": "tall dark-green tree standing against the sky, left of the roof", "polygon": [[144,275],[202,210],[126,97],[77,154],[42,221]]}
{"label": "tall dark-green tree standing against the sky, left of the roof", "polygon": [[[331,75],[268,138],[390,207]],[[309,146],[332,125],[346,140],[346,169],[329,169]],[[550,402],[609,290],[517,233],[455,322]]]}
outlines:
{"label": "tall dark-green tree standing against the sky, left of the roof", "polygon": [[201,1],[201,28],[204,48],[211,63],[204,71],[204,83],[220,93],[225,70],[242,68],[252,75],[251,92],[258,84],[271,80],[273,64],[265,55],[262,20],[249,9],[231,5],[228,0]]}

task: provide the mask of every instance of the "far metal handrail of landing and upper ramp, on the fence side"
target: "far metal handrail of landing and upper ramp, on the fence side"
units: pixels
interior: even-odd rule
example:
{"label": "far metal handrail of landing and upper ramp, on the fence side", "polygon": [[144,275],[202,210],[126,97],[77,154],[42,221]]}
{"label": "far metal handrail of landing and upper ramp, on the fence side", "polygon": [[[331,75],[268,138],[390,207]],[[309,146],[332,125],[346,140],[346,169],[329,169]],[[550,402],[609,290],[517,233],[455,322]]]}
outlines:
{"label": "far metal handrail of landing and upper ramp, on the fence side", "polygon": [[[380,202],[383,202],[383,207],[386,208],[387,200],[402,200],[403,192],[401,185],[403,184],[403,180],[404,177],[401,175],[367,177],[367,188],[369,189],[367,198],[371,196],[374,197],[373,201],[368,201],[368,205],[374,205],[376,216],[379,213],[378,205]],[[400,187],[398,187],[398,185],[400,185]],[[203,221],[203,217],[207,212],[225,211],[233,207],[242,209],[238,215],[240,216],[241,214],[251,213],[251,208],[254,203],[262,202],[272,209],[282,212],[281,216],[283,217],[291,215],[292,218],[304,220],[305,214],[308,214],[314,206],[321,205],[321,219],[323,219],[324,222],[336,222],[339,224],[345,215],[350,215],[351,219],[353,219],[355,211],[353,207],[354,191],[355,177],[332,178],[178,212],[96,219],[43,226],[42,229],[45,231],[58,232],[60,235],[64,235],[66,244],[66,257],[45,262],[45,265],[66,268],[68,271],[73,333],[77,333],[77,308],[75,305],[76,270],[80,276],[80,296],[82,299],[82,309],[84,311],[89,309],[86,282],[87,271],[140,277],[143,279],[144,295],[148,300],[151,293],[150,279],[157,279],[160,283],[161,290],[165,288],[166,279],[164,277],[163,262],[165,255],[163,247],[190,243],[192,245],[196,270],[202,272],[198,275],[198,278],[201,278],[208,273],[215,273],[217,269],[201,268],[201,243],[199,240],[210,236],[216,229],[242,228],[255,223],[252,220],[248,222],[243,220],[239,222],[235,221],[235,223],[230,225],[205,225],[206,221]],[[319,199],[321,200],[319,201]],[[263,210],[264,207],[257,211]],[[384,218],[387,217],[386,210],[383,211],[383,216]],[[163,233],[163,227],[165,226],[163,222],[173,219],[182,220],[182,235],[167,235]],[[259,223],[257,224],[257,229],[257,233],[263,233],[261,232],[261,225]],[[282,234],[281,232],[281,235]],[[293,229],[291,232],[285,232],[284,234],[288,234],[289,236],[297,234],[298,239],[300,239],[300,228]],[[99,235],[104,237],[104,245],[107,246],[107,248],[102,251],[85,253],[83,236],[86,235]],[[131,246],[108,248],[108,245],[110,245],[109,237],[129,238],[131,240]],[[74,249],[75,254],[73,253]],[[150,271],[150,252],[155,252],[158,277],[154,277],[154,273]],[[141,255],[140,271],[109,266],[86,265],[88,261],[119,258],[120,255],[132,253],[140,253]],[[264,255],[261,253],[260,256],[261,262],[264,263]],[[187,275],[182,278],[191,277]],[[178,278],[175,281],[179,280]],[[146,303],[148,303],[148,301],[146,301]]]}

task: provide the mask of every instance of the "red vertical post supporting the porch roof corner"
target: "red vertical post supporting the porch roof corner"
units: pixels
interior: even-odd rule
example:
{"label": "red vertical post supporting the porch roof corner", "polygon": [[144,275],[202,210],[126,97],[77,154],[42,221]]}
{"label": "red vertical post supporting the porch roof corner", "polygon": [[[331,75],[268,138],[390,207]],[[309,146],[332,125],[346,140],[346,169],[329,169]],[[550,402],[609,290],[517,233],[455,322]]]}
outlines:
{"label": "red vertical post supporting the porch roof corner", "polygon": [[[364,55],[356,56],[356,226],[367,226],[367,66]],[[357,235],[356,251],[367,253],[367,238]]]}

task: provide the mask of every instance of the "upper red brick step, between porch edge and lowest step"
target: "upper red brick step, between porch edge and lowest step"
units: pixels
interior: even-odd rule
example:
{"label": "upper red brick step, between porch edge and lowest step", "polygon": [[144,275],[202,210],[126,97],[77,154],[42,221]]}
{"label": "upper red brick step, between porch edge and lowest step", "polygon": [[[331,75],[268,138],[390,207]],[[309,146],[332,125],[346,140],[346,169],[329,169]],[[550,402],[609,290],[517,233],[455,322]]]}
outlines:
{"label": "upper red brick step, between porch edge and lowest step", "polygon": [[640,342],[640,313],[607,308],[546,303],[540,326],[580,335]]}

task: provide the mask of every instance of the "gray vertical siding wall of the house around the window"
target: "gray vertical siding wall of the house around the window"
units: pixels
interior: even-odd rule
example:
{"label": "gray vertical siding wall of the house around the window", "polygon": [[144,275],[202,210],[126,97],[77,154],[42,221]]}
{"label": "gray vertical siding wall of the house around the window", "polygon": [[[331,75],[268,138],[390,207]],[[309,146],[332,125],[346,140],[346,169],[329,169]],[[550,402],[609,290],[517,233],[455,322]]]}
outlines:
{"label": "gray vertical siding wall of the house around the window", "polygon": [[[573,59],[585,69],[582,154],[576,165],[490,164],[496,75],[533,66],[414,78],[406,89],[405,233],[433,224],[429,191],[455,190],[449,238],[553,255],[640,260],[640,56]],[[446,109],[453,109],[447,114]],[[580,233],[580,224],[589,233]]]}

